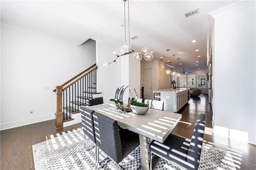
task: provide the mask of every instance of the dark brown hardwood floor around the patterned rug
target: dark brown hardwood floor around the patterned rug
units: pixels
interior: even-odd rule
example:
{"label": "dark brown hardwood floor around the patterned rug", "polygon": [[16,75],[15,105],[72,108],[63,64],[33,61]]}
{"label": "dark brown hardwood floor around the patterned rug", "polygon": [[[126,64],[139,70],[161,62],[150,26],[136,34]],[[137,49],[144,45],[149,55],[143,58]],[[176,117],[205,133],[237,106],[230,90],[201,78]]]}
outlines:
{"label": "dark brown hardwood floor around the patterned rug", "polygon": [[[212,135],[212,113],[208,104],[208,96],[190,98],[189,103],[178,113],[182,119],[172,133],[191,138],[194,123],[200,113],[206,114],[206,134],[204,143],[228,150],[238,170],[256,170],[256,145],[234,141],[228,138]],[[55,129],[55,120],[34,123],[0,131],[1,170],[34,169],[32,145],[40,143],[62,133],[82,127],[81,123]]]}

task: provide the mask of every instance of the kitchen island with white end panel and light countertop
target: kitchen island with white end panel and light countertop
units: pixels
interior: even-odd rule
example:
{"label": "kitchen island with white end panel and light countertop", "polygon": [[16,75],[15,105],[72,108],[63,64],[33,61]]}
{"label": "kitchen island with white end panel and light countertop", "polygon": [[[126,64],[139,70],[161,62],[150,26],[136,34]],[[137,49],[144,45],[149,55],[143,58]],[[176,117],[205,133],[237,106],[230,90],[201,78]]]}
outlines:
{"label": "kitchen island with white end panel and light countertop", "polygon": [[189,90],[190,88],[170,88],[158,90],[156,93],[160,93],[161,101],[164,101],[164,111],[177,112],[188,103]]}

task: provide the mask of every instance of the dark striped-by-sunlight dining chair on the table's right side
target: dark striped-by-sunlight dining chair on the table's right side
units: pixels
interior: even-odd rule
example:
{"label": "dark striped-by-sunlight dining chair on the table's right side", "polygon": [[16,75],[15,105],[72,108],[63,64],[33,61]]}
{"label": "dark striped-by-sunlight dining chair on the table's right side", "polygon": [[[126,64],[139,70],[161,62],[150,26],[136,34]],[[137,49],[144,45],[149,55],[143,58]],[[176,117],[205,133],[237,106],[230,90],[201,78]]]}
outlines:
{"label": "dark striped-by-sunlight dining chair on the table's right side", "polygon": [[179,167],[188,170],[197,170],[199,166],[206,115],[200,114],[196,121],[191,140],[178,135],[170,134],[163,143],[150,143],[150,170],[152,170],[152,154],[170,161]]}

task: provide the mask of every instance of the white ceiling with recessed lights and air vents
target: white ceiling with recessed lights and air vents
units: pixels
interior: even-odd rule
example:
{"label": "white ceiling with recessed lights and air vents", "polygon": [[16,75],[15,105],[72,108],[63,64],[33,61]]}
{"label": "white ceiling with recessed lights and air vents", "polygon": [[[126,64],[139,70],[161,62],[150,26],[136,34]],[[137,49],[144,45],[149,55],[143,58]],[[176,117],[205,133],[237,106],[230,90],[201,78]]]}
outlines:
{"label": "white ceiling with recessed lights and air vents", "polygon": [[[170,61],[170,65],[173,65],[175,54],[174,66],[179,64],[181,71],[182,68],[208,68],[208,13],[235,2],[130,0],[130,37],[138,36],[130,40],[132,48],[148,47],[154,52],[154,60],[163,57],[162,62]],[[196,8],[199,8],[198,14],[184,17],[184,13]],[[77,45],[89,38],[103,39],[118,47],[124,42],[124,27],[121,26],[124,25],[123,0],[1,1],[2,21],[54,35]],[[192,40],[197,42],[192,43]],[[166,49],[170,49],[168,56]]]}

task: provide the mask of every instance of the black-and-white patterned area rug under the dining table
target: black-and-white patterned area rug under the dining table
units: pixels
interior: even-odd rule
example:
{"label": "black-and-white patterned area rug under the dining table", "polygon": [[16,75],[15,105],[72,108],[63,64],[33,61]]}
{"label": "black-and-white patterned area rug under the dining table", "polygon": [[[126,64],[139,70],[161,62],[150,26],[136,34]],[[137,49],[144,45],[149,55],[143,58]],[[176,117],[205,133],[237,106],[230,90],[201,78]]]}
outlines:
{"label": "black-and-white patterned area rug under the dining table", "polygon": [[[150,140],[148,139],[148,143]],[[86,139],[86,148],[93,147],[90,139]],[[32,146],[34,154],[34,164],[36,170],[96,170],[95,149],[84,151],[84,133],[82,129],[77,129],[54,139],[49,139]],[[106,155],[99,153],[100,160],[104,160]],[[121,166],[128,170],[134,170],[140,166],[140,147],[134,150],[121,162]],[[108,162],[102,170],[112,170],[115,168],[113,162]],[[160,159],[156,170],[172,170],[176,167]],[[200,170],[236,170],[234,162],[229,152],[214,147],[204,145],[200,160]]]}

